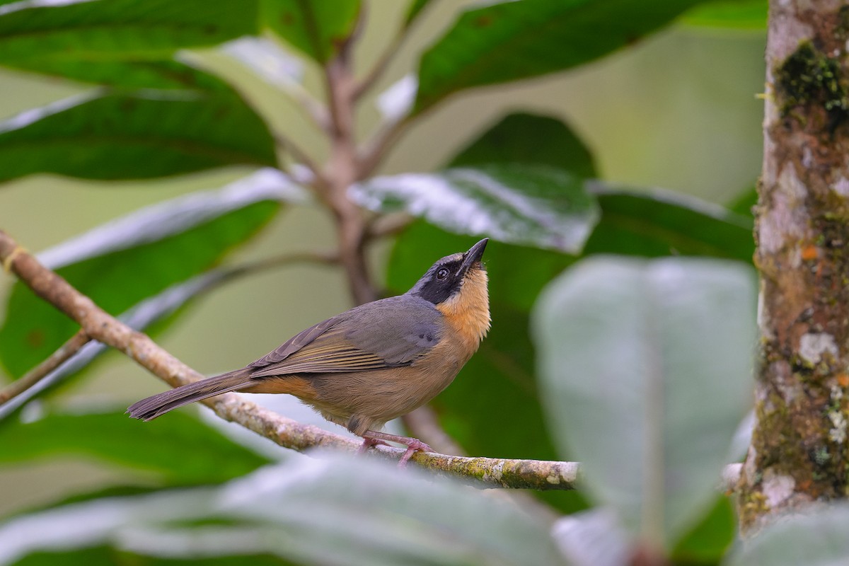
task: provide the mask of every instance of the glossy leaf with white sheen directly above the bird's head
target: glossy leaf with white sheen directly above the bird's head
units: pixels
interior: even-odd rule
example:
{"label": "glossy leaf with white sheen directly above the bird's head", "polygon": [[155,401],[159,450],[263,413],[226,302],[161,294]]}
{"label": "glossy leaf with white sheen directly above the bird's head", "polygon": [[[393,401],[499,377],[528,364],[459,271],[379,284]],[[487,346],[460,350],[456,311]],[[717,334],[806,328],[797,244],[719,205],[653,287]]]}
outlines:
{"label": "glossy leaf with white sheen directly above the bird's head", "polygon": [[451,232],[579,252],[598,220],[579,178],[541,165],[485,165],[374,177],[349,191],[369,210],[404,210]]}

